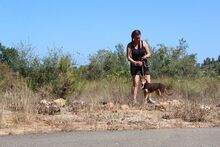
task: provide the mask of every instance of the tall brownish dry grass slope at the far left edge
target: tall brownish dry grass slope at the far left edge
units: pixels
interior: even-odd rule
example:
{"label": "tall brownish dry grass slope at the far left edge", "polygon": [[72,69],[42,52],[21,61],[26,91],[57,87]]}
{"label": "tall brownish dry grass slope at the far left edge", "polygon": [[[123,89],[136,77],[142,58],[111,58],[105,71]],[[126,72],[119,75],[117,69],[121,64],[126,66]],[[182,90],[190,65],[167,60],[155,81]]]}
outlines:
{"label": "tall brownish dry grass slope at the far left edge", "polygon": [[0,64],[0,106],[16,112],[32,113],[38,95],[27,87],[23,78]]}

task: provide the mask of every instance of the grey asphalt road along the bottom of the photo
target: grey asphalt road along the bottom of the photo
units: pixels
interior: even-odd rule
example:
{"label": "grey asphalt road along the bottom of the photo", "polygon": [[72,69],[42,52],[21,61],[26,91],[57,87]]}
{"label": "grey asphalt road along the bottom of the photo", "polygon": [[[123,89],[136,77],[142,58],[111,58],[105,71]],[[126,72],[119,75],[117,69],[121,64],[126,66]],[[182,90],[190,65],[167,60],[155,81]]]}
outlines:
{"label": "grey asphalt road along the bottom of the photo", "polygon": [[220,128],[71,132],[0,137],[0,147],[220,147]]}

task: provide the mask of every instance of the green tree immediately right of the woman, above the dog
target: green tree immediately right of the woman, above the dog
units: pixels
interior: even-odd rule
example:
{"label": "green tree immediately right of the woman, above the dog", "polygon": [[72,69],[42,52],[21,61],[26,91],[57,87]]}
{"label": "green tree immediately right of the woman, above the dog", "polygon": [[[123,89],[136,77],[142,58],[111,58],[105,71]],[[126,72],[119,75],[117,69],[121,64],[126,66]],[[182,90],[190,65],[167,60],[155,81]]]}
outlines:
{"label": "green tree immediately right of the woman, above the dog", "polygon": [[179,40],[176,48],[163,44],[158,49],[152,49],[151,68],[152,76],[192,77],[196,76],[198,66],[196,54],[187,54],[188,44],[184,39]]}

